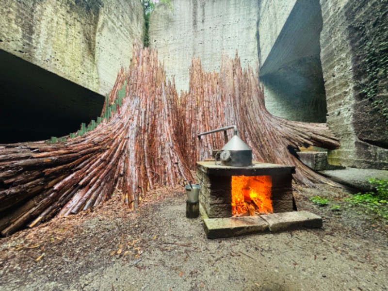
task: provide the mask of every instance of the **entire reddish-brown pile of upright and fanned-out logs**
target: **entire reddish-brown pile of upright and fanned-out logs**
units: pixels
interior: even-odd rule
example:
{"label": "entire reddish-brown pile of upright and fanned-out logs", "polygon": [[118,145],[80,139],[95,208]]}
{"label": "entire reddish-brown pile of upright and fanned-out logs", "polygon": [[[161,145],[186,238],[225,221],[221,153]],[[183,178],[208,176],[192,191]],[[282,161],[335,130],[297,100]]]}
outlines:
{"label": "entire reddish-brown pile of upright and fanned-out logs", "polygon": [[237,56],[224,57],[220,73],[205,72],[193,60],[189,92],[178,97],[157,52],[135,45],[129,70],[119,72],[106,103],[102,121],[82,135],[0,145],[3,236],[101,205],[114,191],[136,208],[149,189],[183,185],[193,179],[195,161],[224,144],[221,134],[199,141],[198,132],[237,124],[257,160],[296,165],[295,180],[310,186],[327,180],[288,148],[339,146],[325,124],[268,113],[258,74],[243,71]]}

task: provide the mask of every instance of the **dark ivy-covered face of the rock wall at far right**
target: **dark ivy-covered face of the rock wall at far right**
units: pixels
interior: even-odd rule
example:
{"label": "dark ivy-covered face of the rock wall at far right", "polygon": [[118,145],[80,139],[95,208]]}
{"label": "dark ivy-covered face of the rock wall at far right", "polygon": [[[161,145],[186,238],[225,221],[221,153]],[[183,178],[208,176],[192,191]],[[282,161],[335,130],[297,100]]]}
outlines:
{"label": "dark ivy-covered face of the rock wall at far right", "polygon": [[361,141],[388,149],[388,3],[348,1],[344,14],[356,85],[355,133]]}

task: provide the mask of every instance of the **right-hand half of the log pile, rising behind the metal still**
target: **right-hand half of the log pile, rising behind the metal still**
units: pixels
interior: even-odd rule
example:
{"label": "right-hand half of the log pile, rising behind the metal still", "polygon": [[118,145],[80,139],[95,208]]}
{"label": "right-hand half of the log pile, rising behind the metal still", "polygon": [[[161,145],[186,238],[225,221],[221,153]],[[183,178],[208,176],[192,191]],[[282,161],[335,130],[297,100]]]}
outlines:
{"label": "right-hand half of the log pile, rising behind the metal still", "polygon": [[[259,162],[295,165],[295,180],[314,187],[316,182],[334,183],[300,162],[295,152],[300,146],[339,147],[339,140],[325,123],[291,121],[272,115],[264,104],[263,87],[251,67],[242,70],[234,59],[223,56],[220,73],[205,72],[194,59],[190,69],[190,91],[182,94],[180,110],[188,132],[185,148],[189,160],[203,160],[211,149],[225,145],[223,134],[205,135],[195,140],[196,132],[236,124],[240,137],[252,148]],[[232,134],[232,132],[230,132]],[[229,136],[231,137],[231,136]]]}

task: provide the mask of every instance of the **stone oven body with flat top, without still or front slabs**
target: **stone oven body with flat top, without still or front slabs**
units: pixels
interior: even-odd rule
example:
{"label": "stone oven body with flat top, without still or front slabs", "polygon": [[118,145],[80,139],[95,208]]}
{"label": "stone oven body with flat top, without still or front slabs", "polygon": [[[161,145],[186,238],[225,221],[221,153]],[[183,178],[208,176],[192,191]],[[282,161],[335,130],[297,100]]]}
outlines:
{"label": "stone oven body with flat top, without still or front slabs", "polygon": [[262,162],[250,166],[197,162],[199,200],[209,218],[293,211],[294,172],[293,166]]}

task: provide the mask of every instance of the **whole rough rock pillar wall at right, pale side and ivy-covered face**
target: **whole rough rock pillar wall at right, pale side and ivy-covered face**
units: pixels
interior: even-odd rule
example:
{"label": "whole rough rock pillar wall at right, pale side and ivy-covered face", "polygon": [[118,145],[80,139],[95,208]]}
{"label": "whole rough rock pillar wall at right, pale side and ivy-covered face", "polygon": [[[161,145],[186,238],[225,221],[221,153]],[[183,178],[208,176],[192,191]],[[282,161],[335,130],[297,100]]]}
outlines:
{"label": "whole rough rock pillar wall at right, pale side and ivy-covered face", "polygon": [[341,141],[328,160],[387,169],[388,1],[321,0],[321,6],[327,123]]}

